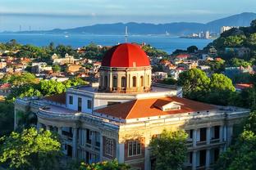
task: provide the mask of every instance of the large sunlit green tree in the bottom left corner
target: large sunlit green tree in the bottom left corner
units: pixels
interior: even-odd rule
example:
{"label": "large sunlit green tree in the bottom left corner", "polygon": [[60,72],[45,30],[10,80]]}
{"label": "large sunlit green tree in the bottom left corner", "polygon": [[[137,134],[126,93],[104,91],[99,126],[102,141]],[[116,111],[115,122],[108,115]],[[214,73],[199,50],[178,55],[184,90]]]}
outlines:
{"label": "large sunlit green tree in the bottom left corner", "polygon": [[11,132],[0,140],[0,163],[18,169],[57,169],[61,144],[49,131],[35,128]]}

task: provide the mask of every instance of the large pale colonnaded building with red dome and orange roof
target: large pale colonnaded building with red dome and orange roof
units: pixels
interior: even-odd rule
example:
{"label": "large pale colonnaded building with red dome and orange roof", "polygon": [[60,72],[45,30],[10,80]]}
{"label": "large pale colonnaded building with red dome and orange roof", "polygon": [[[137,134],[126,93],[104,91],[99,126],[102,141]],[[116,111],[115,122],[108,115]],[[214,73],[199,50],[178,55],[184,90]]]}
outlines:
{"label": "large pale colonnaded building with red dome and orange roof", "polygon": [[151,139],[164,129],[180,128],[189,134],[185,167],[212,168],[230,144],[233,126],[249,114],[190,101],[182,98],[181,87],[151,83],[148,56],[130,43],[104,56],[99,83],[55,96],[17,99],[15,128],[21,111],[35,113],[38,128],[57,132],[67,156],[87,163],[117,158],[146,170],[153,169],[156,159],[150,154]]}

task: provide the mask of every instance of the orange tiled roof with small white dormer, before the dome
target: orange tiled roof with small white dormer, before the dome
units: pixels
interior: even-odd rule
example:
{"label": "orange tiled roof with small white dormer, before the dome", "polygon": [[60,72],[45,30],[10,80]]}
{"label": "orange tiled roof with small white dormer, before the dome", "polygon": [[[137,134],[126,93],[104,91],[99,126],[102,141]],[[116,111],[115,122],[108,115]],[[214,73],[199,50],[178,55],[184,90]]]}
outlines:
{"label": "orange tiled roof with small white dormer, before the dome", "polygon": [[[181,110],[162,111],[163,105],[167,105],[171,101],[181,103]],[[111,105],[103,109],[95,110],[100,114],[107,114],[121,119],[138,119],[147,118],[152,116],[161,116],[168,114],[182,114],[188,112],[198,112],[203,110],[216,110],[213,105],[201,103],[199,101],[191,101],[189,99],[181,98],[178,96],[142,99],[135,101],[128,101],[117,105]]]}

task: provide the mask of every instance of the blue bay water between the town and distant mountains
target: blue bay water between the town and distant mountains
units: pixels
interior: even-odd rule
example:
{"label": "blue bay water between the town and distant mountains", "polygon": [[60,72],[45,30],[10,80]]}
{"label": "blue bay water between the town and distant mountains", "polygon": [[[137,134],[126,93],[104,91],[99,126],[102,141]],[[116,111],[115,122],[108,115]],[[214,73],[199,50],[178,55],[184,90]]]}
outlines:
{"label": "blue bay water between the town and distant mountains", "polygon": [[[124,35],[97,35],[97,34],[0,34],[0,42],[8,42],[16,39],[21,44],[32,44],[35,46],[47,46],[50,42],[55,45],[71,45],[72,47],[83,47],[91,42],[103,46],[112,46],[125,42]],[[128,42],[145,42],[160,50],[171,53],[176,49],[185,50],[190,46],[197,46],[199,49],[206,47],[212,39],[188,39],[171,37],[167,35],[130,35]]]}

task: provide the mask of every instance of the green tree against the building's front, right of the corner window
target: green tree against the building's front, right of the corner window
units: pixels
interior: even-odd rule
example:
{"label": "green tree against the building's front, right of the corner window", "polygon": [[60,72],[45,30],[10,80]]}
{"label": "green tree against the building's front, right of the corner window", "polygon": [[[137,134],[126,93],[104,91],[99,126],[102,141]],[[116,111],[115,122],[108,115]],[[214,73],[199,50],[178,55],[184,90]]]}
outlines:
{"label": "green tree against the building's front, right of the corner window", "polygon": [[150,150],[156,158],[156,169],[181,169],[186,158],[187,147],[185,142],[188,135],[184,131],[164,130],[159,138],[150,142]]}

